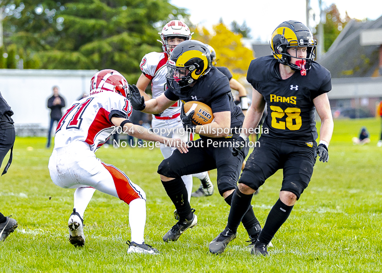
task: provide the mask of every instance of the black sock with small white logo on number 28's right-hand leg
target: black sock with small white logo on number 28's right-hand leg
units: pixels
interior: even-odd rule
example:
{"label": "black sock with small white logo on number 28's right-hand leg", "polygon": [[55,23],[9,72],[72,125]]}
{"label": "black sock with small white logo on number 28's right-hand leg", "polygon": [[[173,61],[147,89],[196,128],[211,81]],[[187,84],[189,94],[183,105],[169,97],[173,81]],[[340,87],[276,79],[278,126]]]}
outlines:
{"label": "black sock with small white logo on number 28's right-hand leg", "polygon": [[279,228],[288,219],[293,206],[287,206],[281,200],[277,200],[276,204],[269,211],[268,217],[266,218],[265,225],[261,231],[258,240],[261,243],[268,244],[271,239],[275,236]]}

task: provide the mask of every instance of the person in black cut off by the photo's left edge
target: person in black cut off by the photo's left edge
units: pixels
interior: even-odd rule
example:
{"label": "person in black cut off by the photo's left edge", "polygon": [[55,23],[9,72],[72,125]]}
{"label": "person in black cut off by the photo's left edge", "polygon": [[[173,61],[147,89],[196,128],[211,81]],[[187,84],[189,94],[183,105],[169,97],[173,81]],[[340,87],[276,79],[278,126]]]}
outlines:
{"label": "person in black cut off by the photo's left edge", "polygon": [[[11,150],[11,155],[9,156],[7,166],[5,167],[2,175],[7,173],[12,162],[13,144],[15,142],[16,135],[13,120],[11,118],[12,115],[13,112],[11,107],[0,93],[0,167],[3,163],[4,157],[7,155],[8,151]],[[16,220],[6,217],[0,212],[0,240],[5,240],[16,228]]]}

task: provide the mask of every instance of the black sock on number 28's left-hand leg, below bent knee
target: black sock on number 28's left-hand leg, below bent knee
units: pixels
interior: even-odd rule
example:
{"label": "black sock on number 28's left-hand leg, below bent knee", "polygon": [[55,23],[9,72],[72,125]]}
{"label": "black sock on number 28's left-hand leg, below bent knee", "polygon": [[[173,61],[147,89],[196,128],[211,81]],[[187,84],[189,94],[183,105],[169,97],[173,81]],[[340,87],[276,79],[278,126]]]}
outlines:
{"label": "black sock on number 28's left-hand leg, below bent knee", "polygon": [[240,192],[239,188],[236,188],[233,192],[230,214],[228,215],[227,228],[236,233],[237,227],[240,225],[244,214],[248,212],[251,206],[252,195],[244,195]]}

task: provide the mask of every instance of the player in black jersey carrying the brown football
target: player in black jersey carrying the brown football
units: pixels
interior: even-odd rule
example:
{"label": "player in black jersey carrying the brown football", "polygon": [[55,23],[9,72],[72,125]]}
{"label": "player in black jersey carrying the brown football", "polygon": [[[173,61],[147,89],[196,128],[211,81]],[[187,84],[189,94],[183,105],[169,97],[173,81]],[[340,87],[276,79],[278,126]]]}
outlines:
{"label": "player in black jersey carrying the brown football", "polygon": [[[200,139],[189,143],[188,152],[173,154],[163,160],[158,173],[165,190],[174,203],[180,220],[163,236],[164,241],[176,241],[188,228],[197,225],[187,200],[187,190],[181,178],[217,169],[217,188],[224,200],[230,205],[232,194],[237,187],[240,166],[248,154],[249,147],[241,149],[233,156],[230,147],[238,136],[244,115],[233,103],[228,78],[210,66],[210,52],[207,46],[196,40],[181,42],[171,52],[167,63],[168,90],[155,99],[144,101],[137,90],[131,90],[130,101],[135,110],[145,113],[160,113],[175,101],[181,99],[200,101],[211,107],[214,121],[205,125],[194,125],[193,112],[188,116],[181,113],[186,131],[200,135]],[[247,229],[250,238],[257,237],[261,230],[252,207],[247,209],[240,220]]]}

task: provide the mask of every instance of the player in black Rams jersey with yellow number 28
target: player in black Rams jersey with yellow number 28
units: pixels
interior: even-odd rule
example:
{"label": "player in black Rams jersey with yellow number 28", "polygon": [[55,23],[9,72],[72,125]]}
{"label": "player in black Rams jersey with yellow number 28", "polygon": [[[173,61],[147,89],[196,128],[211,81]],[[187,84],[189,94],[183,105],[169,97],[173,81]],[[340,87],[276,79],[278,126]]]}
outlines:
{"label": "player in black Rams jersey with yellow number 28", "polygon": [[[224,245],[235,238],[255,190],[277,170],[283,169],[280,198],[271,208],[251,251],[255,255],[268,255],[267,244],[288,219],[296,200],[308,186],[317,155],[320,161],[328,161],[333,118],[326,93],[332,89],[331,74],[313,61],[316,43],[304,24],[286,21],[272,34],[273,57],[251,62],[247,80],[253,86],[252,105],[232,153],[235,155],[245,147],[249,130],[257,126],[265,103],[268,113],[263,128],[268,129],[268,133],[261,135],[260,147],[247,159],[232,198],[228,224],[210,243],[210,252],[224,251]],[[315,109],[321,119],[318,146]],[[225,243],[217,245],[216,241]]]}

